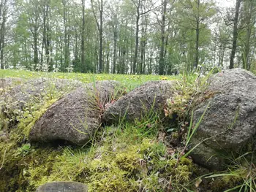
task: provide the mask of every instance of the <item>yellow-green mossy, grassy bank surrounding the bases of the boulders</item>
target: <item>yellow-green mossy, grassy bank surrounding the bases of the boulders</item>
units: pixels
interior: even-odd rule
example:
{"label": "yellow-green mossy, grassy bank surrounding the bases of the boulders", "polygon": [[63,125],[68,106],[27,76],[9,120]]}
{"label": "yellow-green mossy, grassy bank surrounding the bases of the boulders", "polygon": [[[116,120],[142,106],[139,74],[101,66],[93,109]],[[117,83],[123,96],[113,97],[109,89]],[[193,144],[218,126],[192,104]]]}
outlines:
{"label": "yellow-green mossy, grassy bank surrounding the bases of the boulders", "polygon": [[[184,80],[178,85],[165,109],[166,117],[177,115],[177,127],[163,127],[152,111],[140,120],[102,128],[84,147],[58,141],[29,143],[31,127],[61,95],[52,92],[38,103],[28,103],[16,116],[18,124],[7,123],[6,137],[0,137],[0,191],[34,192],[53,181],[84,183],[96,192],[245,190],[256,178],[247,158],[252,153],[241,155],[221,173],[211,173],[189,158],[193,128],[184,110],[194,87]],[[1,119],[10,121],[2,115]],[[170,142],[174,139],[175,145]]]}

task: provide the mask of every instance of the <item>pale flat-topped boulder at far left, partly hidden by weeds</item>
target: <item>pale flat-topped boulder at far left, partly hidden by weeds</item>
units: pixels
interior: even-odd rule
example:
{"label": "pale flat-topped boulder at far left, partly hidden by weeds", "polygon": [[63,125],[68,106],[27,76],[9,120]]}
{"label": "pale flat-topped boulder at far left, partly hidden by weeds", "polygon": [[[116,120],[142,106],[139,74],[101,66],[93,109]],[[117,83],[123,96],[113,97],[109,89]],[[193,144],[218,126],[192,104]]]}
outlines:
{"label": "pale flat-topped boulder at far left, partly hidden by weeds", "polygon": [[[1,80],[1,86],[15,85],[20,79],[6,78]],[[44,104],[45,100],[59,97],[82,86],[77,80],[38,78],[20,82],[0,94],[1,115],[12,120],[12,125],[17,123],[16,118],[22,114],[26,106]],[[1,124],[1,123],[0,123]]]}

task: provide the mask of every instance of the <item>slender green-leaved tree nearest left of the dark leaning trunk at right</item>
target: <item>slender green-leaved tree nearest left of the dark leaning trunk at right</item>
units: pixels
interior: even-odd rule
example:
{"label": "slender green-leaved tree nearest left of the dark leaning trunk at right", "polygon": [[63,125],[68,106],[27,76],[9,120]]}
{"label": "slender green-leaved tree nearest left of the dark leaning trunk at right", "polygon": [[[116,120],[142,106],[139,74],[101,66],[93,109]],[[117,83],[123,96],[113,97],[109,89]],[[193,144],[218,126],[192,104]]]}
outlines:
{"label": "slender green-leaved tree nearest left of the dark leaning trunk at right", "polygon": [[187,69],[192,71],[200,63],[200,48],[210,39],[207,37],[211,34],[208,27],[216,13],[215,4],[213,1],[186,0],[178,1],[176,6],[178,12],[181,12],[177,25],[182,28],[184,41],[189,42],[185,45],[189,47]]}

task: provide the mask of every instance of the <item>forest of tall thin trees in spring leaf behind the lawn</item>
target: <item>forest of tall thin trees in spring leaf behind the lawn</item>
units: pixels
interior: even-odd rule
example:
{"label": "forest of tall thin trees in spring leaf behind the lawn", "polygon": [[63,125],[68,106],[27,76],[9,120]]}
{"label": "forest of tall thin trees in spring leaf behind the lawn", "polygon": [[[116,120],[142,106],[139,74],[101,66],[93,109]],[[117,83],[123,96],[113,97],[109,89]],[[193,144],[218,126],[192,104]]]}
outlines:
{"label": "forest of tall thin trees in spring leaf behind the lawn", "polygon": [[256,1],[0,0],[1,69],[255,72]]}

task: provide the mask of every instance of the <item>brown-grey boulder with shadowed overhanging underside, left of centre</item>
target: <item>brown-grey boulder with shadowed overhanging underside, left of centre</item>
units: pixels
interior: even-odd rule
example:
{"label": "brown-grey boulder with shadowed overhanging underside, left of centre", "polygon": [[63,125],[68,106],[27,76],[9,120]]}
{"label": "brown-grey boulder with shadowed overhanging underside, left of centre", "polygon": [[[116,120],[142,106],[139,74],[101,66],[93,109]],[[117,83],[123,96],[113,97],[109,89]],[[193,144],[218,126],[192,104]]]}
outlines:
{"label": "brown-grey boulder with shadowed overhanging underside, left of centre", "polygon": [[65,140],[85,145],[101,125],[104,107],[116,95],[119,83],[105,80],[77,88],[56,101],[34,124],[32,142]]}

